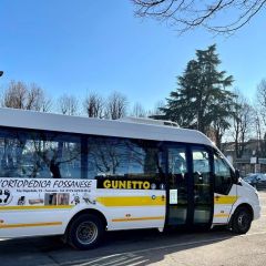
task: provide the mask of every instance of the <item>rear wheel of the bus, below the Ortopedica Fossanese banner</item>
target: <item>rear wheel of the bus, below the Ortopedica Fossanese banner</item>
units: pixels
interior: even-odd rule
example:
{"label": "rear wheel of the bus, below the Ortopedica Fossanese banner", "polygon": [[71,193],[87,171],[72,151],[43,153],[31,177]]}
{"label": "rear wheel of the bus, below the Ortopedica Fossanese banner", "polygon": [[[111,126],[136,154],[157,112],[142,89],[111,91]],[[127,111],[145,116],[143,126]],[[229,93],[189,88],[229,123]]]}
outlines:
{"label": "rear wheel of the bus, below the Ortopedica Fossanese banner", "polygon": [[99,246],[104,233],[101,218],[93,214],[82,214],[71,223],[68,242],[76,249],[86,250]]}

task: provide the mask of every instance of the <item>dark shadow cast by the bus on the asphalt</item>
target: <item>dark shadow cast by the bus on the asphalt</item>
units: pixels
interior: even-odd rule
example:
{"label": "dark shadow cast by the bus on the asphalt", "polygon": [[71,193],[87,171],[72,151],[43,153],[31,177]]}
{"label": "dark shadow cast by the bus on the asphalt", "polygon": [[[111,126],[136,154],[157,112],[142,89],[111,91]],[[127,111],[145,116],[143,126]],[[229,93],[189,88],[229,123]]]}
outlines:
{"label": "dark shadow cast by the bus on the asphalt", "polygon": [[165,255],[226,241],[234,235],[225,229],[209,232],[155,229],[108,233],[102,246],[92,250],[74,250],[58,237],[38,237],[0,242],[3,265],[149,265]]}

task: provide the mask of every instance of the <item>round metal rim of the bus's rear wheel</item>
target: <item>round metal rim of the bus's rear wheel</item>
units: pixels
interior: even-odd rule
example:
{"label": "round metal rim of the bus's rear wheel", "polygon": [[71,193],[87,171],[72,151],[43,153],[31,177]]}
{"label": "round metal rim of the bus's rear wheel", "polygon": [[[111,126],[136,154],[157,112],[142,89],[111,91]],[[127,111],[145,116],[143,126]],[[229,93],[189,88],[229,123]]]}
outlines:
{"label": "round metal rim of the bus's rear wheel", "polygon": [[92,222],[83,222],[76,228],[76,239],[82,245],[93,243],[98,237],[98,227]]}

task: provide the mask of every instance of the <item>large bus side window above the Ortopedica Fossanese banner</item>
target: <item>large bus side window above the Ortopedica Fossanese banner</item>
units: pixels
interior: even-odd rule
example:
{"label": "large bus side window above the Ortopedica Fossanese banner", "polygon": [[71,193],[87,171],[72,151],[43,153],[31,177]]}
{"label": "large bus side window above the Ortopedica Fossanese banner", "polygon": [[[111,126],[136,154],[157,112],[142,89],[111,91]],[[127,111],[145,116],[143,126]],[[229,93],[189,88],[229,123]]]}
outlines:
{"label": "large bus side window above the Ortopedica Fossanese banner", "polygon": [[64,133],[1,129],[0,176],[80,178],[80,137]]}

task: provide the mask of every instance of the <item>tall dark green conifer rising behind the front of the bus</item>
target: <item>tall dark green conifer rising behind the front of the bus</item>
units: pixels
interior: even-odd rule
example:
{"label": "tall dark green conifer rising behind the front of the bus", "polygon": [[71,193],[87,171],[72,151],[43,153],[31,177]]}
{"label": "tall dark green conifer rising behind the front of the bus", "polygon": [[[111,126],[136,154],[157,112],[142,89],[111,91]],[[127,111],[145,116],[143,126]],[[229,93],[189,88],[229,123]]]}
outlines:
{"label": "tall dark green conifer rising behind the front of the bus", "polygon": [[216,45],[197,50],[196,59],[187,63],[183,75],[177,76],[177,90],[166,99],[163,119],[172,120],[182,127],[197,129],[207,134],[215,131],[221,143],[223,132],[229,126],[235,94],[225,90],[233,76],[218,71],[221,64]]}

